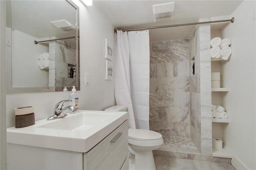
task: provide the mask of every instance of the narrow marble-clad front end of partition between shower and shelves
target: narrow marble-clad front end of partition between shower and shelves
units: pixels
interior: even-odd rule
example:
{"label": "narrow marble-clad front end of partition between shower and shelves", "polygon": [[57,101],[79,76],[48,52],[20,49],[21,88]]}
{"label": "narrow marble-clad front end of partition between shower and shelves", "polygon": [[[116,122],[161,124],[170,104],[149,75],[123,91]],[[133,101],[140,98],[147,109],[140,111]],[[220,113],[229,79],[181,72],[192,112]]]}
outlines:
{"label": "narrow marble-clad front end of partition between shower and shelves", "polygon": [[[208,18],[200,22],[210,21]],[[202,155],[212,155],[211,118],[211,57],[210,25],[199,26],[200,32],[200,112],[201,112],[201,151]]]}

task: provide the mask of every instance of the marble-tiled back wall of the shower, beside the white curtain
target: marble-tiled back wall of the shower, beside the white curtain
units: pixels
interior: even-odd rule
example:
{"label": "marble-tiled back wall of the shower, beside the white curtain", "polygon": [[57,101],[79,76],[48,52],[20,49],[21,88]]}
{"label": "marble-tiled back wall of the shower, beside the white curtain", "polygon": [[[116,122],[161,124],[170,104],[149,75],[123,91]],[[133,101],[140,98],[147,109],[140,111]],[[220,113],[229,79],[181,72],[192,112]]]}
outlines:
{"label": "marble-tiled back wall of the shower, beside the white curtain", "polygon": [[190,136],[189,42],[150,43],[150,130]]}

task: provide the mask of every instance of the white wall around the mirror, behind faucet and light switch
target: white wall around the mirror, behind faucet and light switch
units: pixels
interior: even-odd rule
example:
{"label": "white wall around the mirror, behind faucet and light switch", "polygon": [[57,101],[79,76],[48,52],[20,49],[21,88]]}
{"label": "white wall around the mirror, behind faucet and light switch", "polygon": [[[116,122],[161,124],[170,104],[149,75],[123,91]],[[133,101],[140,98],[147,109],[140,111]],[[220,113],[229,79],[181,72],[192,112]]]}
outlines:
{"label": "white wall around the mirror, behind faucet and light switch", "polygon": [[[80,7],[80,109],[104,110],[115,105],[114,81],[105,80],[104,43],[108,38],[114,44],[114,27],[96,6]],[[90,85],[84,84],[84,73],[90,74]],[[68,99],[70,92],[47,92],[6,95],[7,127],[14,126],[14,108],[35,106],[36,120],[53,114],[54,105]]]}

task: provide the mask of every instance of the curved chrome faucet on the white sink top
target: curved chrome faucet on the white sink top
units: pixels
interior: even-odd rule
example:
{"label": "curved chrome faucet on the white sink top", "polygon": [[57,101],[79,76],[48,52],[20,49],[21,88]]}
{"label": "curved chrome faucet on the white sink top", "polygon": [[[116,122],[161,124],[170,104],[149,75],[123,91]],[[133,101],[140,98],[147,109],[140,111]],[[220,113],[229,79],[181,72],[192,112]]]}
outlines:
{"label": "curved chrome faucet on the white sink top", "polygon": [[58,118],[67,116],[67,114],[64,113],[64,111],[67,109],[70,110],[71,112],[75,112],[76,108],[74,106],[67,106],[62,109],[62,106],[64,105],[64,103],[71,102],[71,101],[72,100],[62,100],[62,101],[58,102],[54,107],[53,115],[48,117],[47,120],[50,121],[50,120],[54,120],[54,119],[58,119]]}

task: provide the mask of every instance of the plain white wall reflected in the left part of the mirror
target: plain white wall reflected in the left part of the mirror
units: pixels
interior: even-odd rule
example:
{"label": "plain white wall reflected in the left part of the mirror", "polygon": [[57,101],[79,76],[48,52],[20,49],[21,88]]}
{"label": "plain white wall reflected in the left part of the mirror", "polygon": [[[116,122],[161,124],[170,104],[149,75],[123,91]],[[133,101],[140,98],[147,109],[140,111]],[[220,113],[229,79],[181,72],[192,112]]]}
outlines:
{"label": "plain white wall reflected in the left part of the mirror", "polygon": [[12,51],[11,47],[6,46],[6,55],[12,53],[12,85],[14,87],[47,87],[49,70],[39,68],[38,55],[48,53],[49,47],[34,44],[34,40],[38,40],[36,37],[19,30],[12,31],[12,35],[10,32],[11,28],[6,27],[6,41],[12,44]]}

